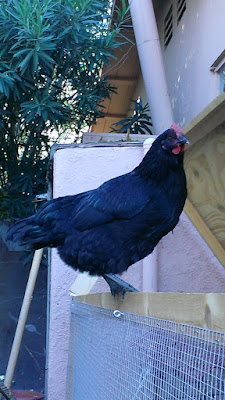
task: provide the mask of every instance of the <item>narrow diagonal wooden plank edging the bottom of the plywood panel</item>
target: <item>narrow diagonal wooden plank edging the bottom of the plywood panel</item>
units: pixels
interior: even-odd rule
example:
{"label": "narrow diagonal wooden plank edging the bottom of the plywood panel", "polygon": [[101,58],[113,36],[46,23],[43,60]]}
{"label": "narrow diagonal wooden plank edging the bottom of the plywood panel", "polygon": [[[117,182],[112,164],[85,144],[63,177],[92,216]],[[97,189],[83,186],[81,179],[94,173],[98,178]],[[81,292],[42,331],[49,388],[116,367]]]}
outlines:
{"label": "narrow diagonal wooden plank edging the bottom of the plywood panel", "polygon": [[220,263],[225,267],[225,250],[217,240],[217,238],[213,235],[203,218],[200,216],[196,208],[193,206],[191,201],[187,198],[184,212],[196,227],[202,238],[205,240],[207,245],[210,247],[212,252],[218,258]]}

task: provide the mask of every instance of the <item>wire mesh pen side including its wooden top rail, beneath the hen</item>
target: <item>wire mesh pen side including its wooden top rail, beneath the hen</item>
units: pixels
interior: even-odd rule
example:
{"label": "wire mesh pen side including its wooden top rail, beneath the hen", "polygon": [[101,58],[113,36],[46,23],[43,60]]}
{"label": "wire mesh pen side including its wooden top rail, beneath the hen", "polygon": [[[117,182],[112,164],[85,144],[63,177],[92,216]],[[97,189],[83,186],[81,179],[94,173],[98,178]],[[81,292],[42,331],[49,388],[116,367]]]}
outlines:
{"label": "wire mesh pen side including its wooden top rail, beneath the hen", "polygon": [[67,399],[224,400],[224,327],[225,294],[76,297]]}

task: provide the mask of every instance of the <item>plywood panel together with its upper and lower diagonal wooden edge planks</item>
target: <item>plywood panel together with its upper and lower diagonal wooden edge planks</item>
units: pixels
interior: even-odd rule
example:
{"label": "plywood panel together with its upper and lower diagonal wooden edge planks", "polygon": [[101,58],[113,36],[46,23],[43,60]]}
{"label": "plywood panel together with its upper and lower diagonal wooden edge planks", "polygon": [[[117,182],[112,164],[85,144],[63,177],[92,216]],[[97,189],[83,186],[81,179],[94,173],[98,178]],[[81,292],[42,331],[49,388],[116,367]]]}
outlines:
{"label": "plywood panel together with its upper and lower diagonal wooden edge planks", "polygon": [[185,212],[225,267],[225,93],[186,127],[188,200]]}

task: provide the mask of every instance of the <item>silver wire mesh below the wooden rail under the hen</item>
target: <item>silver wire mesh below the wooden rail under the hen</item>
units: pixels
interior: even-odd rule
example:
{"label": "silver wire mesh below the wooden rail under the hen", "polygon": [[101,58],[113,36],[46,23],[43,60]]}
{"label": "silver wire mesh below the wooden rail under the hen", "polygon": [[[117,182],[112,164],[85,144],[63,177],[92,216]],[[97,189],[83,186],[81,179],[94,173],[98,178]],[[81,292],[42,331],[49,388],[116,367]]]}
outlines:
{"label": "silver wire mesh below the wooden rail under the hen", "polygon": [[224,334],[73,301],[67,400],[225,400]]}

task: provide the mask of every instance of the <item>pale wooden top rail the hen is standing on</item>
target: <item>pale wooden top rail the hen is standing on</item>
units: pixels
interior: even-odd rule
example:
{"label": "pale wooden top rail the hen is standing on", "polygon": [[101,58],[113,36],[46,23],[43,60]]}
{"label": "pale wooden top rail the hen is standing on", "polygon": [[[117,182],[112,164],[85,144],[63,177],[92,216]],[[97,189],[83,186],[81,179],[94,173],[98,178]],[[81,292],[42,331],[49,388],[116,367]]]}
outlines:
{"label": "pale wooden top rail the hen is standing on", "polygon": [[225,332],[225,293],[110,293],[77,296],[73,301]]}

